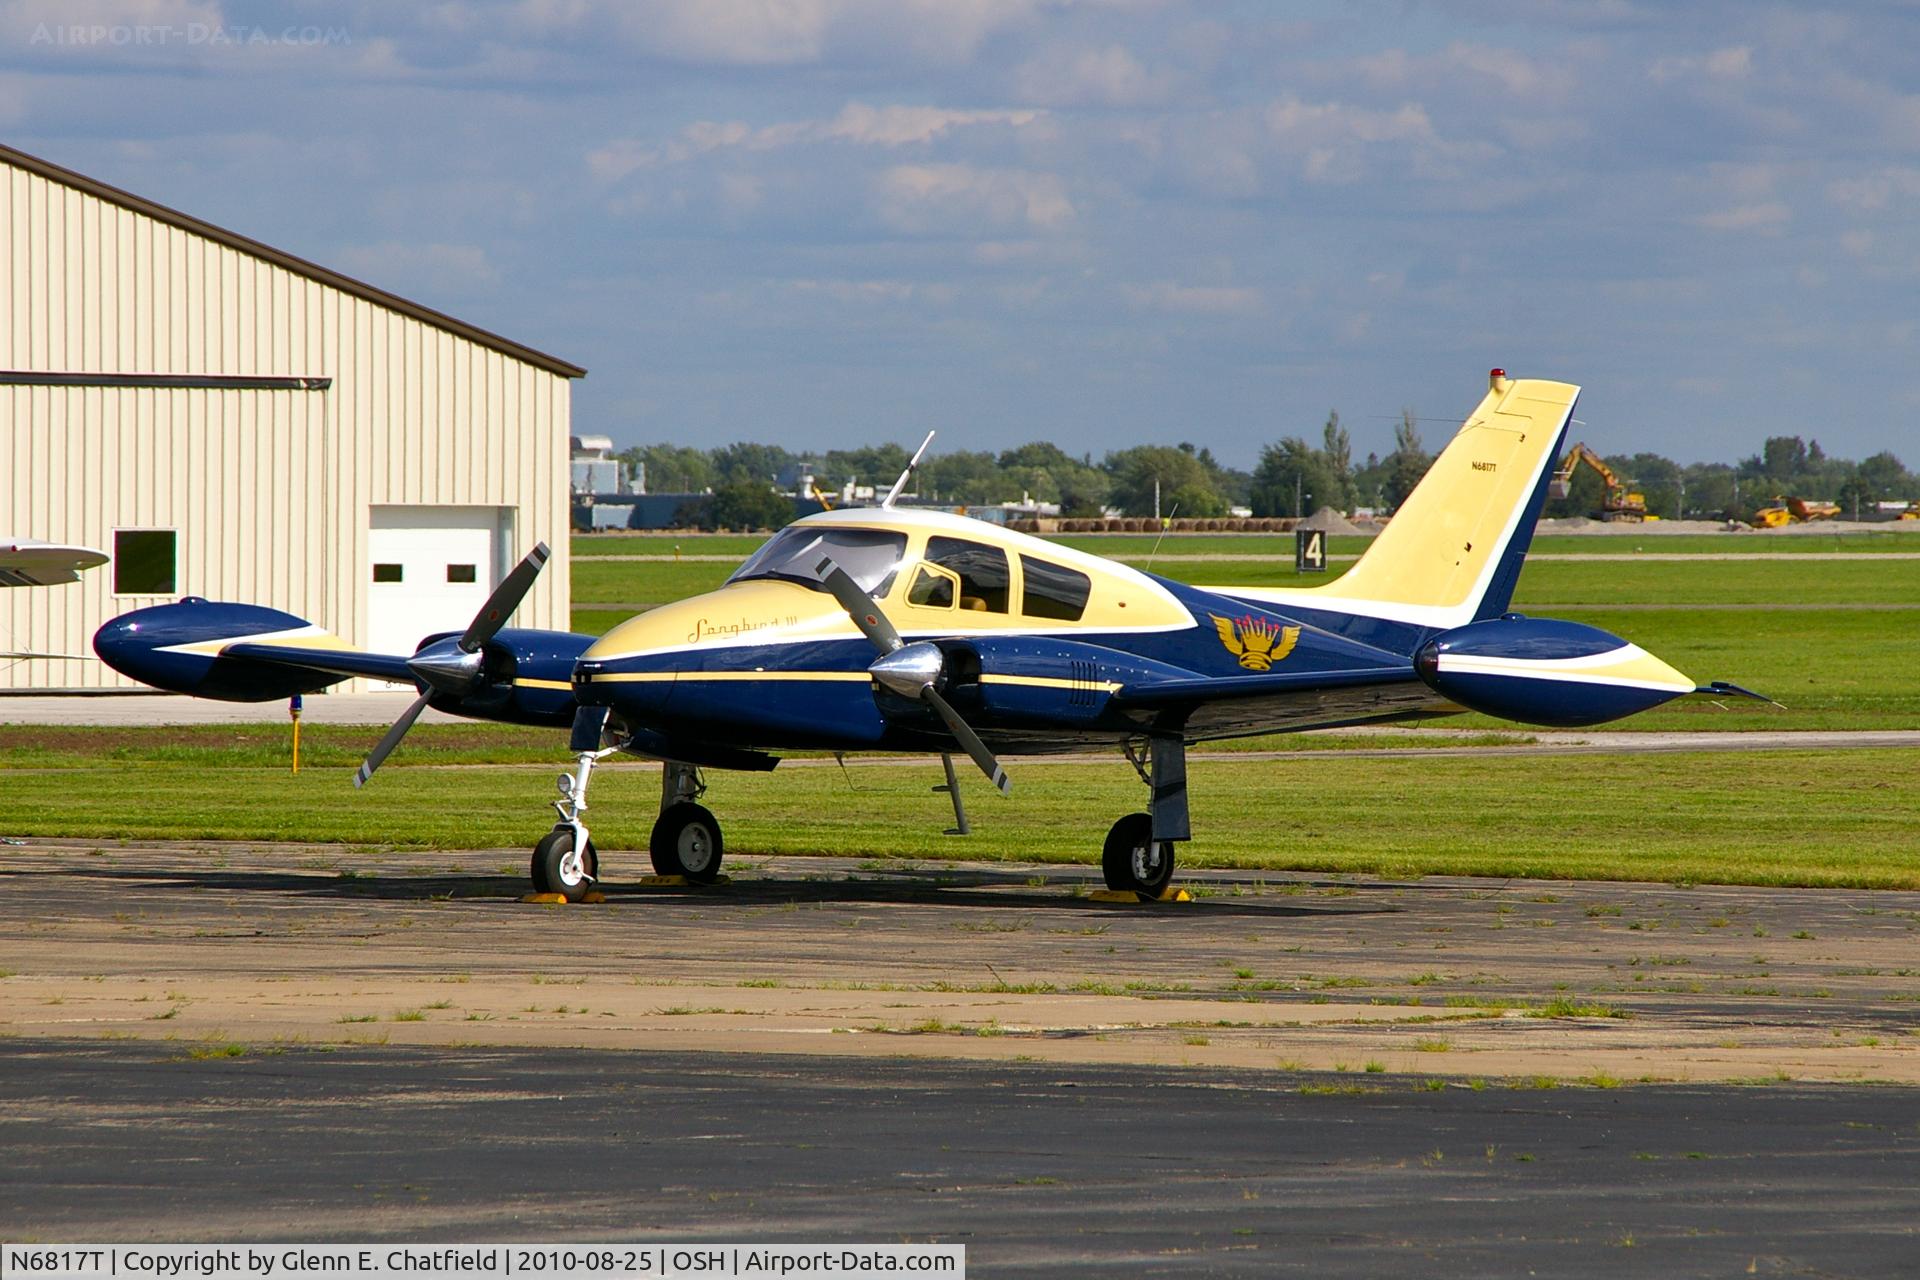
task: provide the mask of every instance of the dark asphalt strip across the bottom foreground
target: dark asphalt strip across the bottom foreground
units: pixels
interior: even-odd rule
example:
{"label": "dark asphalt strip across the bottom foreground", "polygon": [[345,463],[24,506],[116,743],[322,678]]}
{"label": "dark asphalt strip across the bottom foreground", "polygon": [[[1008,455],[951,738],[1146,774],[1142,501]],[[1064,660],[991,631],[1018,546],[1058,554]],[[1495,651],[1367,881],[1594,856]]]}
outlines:
{"label": "dark asphalt strip across the bottom foreground", "polygon": [[966,1244],[975,1276],[1912,1276],[1874,1086],[0,1042],[8,1240]]}

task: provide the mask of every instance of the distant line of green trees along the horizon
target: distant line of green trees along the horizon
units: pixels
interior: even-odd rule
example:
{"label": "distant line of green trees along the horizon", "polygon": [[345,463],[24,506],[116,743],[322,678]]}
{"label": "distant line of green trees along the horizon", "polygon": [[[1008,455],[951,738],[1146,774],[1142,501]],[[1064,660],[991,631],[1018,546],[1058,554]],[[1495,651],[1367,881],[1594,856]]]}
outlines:
{"label": "distant line of green trees along the horizon", "polygon": [[[799,455],[781,445],[732,443],[716,449],[639,445],[620,455],[645,464],[653,493],[697,493],[689,520],[726,528],[785,524],[791,505],[776,478],[808,459],[820,487],[835,491],[849,480],[885,489],[908,462],[895,443]],[[1033,441],[1018,449],[935,453],[920,462],[914,489],[925,501],[989,507],[1031,499],[1060,503],[1066,516],[1098,516],[1116,509],[1127,516],[1225,516],[1248,507],[1256,516],[1302,516],[1332,507],[1390,514],[1432,462],[1419,418],[1404,411],[1394,449],[1384,457],[1354,459],[1354,441],[1338,413],[1327,415],[1319,443],[1286,436],[1260,451],[1254,470],[1225,466],[1212,449],[1135,445],[1098,461],[1073,457],[1058,445]],[[1738,462],[1680,464],[1657,453],[1607,455],[1628,489],[1644,493],[1647,510],[1665,518],[1743,518],[1776,495],[1839,503],[1847,516],[1882,501],[1920,499],[1920,476],[1887,451],[1860,462],[1828,457],[1820,441],[1774,436],[1759,453]],[[1548,503],[1549,516],[1597,514],[1605,486],[1592,468],[1578,468],[1571,493]]]}

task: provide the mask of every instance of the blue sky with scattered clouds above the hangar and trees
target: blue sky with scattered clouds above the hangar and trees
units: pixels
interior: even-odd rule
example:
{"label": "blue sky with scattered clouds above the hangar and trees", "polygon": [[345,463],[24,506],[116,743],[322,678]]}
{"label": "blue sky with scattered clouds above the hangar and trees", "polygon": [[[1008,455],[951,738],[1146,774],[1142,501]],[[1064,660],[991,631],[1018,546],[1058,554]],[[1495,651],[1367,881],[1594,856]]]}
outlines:
{"label": "blue sky with scattered clouds above the hangar and trees", "polygon": [[586,365],[620,443],[1920,464],[1920,6],[0,6],[13,146]]}

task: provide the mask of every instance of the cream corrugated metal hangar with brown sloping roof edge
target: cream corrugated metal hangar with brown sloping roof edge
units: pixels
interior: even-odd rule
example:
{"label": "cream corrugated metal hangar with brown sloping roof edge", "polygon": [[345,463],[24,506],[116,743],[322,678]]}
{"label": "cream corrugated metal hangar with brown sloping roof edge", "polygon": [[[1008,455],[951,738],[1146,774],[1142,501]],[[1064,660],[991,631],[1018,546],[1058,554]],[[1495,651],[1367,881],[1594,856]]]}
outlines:
{"label": "cream corrugated metal hangar with brown sloping roof edge", "polygon": [[[536,541],[515,624],[566,629],[584,368],[6,146],[0,180],[0,533],[113,557],[0,591],[0,651],[88,654],[204,595],[413,652]],[[0,666],[0,693],[117,687]]]}

